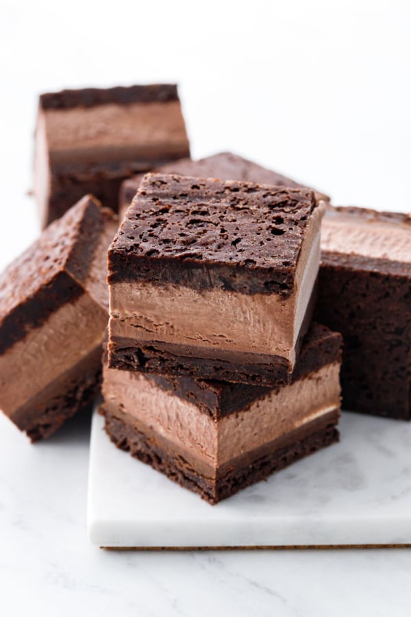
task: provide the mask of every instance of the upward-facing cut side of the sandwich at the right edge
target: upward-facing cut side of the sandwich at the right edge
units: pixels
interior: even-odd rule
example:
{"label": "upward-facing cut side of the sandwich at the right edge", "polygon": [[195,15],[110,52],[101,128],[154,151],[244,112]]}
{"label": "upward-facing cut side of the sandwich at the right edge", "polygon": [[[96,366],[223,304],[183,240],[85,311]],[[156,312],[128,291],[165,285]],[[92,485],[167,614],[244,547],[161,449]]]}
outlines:
{"label": "upward-facing cut side of the sandwich at the right edge", "polygon": [[411,276],[411,215],[367,208],[327,208],[323,264]]}

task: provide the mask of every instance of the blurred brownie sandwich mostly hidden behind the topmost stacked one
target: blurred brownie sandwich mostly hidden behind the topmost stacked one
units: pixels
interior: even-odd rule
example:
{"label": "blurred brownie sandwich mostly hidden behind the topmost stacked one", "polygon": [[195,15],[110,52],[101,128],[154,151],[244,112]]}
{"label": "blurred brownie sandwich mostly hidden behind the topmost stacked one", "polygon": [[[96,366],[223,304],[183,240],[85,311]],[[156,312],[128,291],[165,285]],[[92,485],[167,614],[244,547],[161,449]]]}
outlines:
{"label": "blurred brownie sandwich mostly hidden behind the topmost stacked one", "polygon": [[[179,176],[196,176],[197,178],[220,178],[220,180],[242,180],[242,182],[259,182],[260,184],[275,184],[275,186],[288,186],[290,189],[303,189],[304,184],[299,184],[280,173],[265,169],[251,160],[232,154],[220,152],[213,156],[206,156],[200,160],[182,158],[167,163],[160,169],[153,170],[156,173],[178,173]],[[138,173],[132,178],[124,180],[120,189],[120,218],[123,219],[125,211],[132,203],[138,187],[141,184],[144,173]],[[317,199],[329,202],[329,197],[323,193],[315,192]]]}

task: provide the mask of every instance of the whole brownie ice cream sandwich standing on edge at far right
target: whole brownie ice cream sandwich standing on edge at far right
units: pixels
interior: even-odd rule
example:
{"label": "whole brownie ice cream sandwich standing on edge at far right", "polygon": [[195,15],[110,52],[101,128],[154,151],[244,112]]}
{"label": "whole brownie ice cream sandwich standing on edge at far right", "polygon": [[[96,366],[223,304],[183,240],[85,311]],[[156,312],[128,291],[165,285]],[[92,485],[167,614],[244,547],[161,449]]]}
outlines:
{"label": "whole brownie ice cream sandwich standing on edge at far right", "polygon": [[411,419],[411,217],[329,208],[316,317],[343,334],[343,407]]}

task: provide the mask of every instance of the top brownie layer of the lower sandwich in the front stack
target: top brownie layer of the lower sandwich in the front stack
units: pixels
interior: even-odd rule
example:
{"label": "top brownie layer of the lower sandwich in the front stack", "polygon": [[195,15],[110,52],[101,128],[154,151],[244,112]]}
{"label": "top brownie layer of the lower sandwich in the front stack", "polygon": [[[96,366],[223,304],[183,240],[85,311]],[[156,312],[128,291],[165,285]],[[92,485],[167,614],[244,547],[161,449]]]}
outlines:
{"label": "top brownie layer of the lower sandwich in the front stack", "polygon": [[[290,383],[295,383],[326,365],[340,363],[341,346],[342,337],[338,332],[332,332],[325,326],[313,322],[303,339]],[[149,378],[161,389],[171,391],[189,402],[194,402],[201,411],[212,415],[213,418],[236,413],[275,389],[275,385],[272,387],[251,386],[182,376],[152,374]],[[277,387],[284,387],[284,384],[279,382]]]}

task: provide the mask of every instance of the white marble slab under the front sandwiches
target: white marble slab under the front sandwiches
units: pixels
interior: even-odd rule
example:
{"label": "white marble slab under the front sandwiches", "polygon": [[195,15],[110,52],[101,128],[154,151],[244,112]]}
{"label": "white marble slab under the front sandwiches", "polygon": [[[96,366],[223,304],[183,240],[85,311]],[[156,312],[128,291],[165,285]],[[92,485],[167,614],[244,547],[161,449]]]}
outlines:
{"label": "white marble slab under the front sandwiches", "polygon": [[411,543],[411,424],[343,413],[341,440],[211,506],[92,420],[88,535],[105,547]]}

